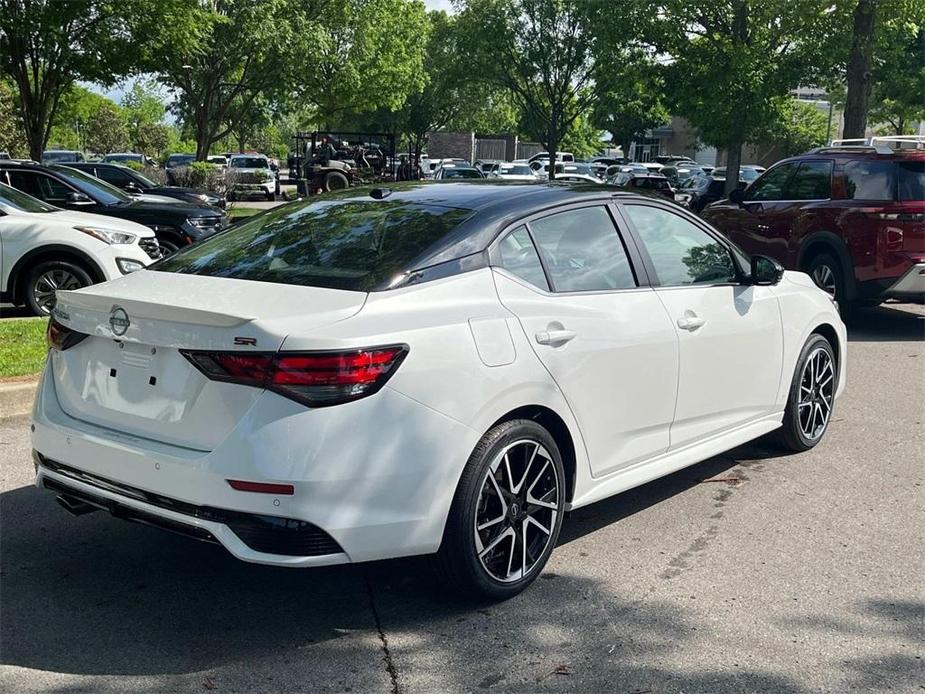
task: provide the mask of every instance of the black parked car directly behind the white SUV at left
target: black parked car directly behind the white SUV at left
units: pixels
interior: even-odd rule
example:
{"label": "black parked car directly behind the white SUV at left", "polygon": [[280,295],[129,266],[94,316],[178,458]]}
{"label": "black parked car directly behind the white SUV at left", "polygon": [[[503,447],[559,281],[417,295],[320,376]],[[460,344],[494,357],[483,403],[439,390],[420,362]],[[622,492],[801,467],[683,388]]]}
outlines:
{"label": "black parked car directly behind the white SUV at left", "polygon": [[55,207],[129,219],[154,230],[165,251],[187,246],[228,224],[225,213],[210,205],[146,202],[68,166],[0,161],[6,183]]}

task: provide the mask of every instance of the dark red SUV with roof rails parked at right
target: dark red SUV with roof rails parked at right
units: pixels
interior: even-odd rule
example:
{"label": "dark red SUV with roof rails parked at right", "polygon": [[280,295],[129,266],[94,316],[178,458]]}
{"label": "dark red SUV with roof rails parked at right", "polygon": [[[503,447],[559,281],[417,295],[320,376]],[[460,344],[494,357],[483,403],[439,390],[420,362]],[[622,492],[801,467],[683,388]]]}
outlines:
{"label": "dark red SUV with roof rails parked at right", "polygon": [[747,252],[803,270],[846,308],[925,299],[925,149],[813,150],[702,216]]}

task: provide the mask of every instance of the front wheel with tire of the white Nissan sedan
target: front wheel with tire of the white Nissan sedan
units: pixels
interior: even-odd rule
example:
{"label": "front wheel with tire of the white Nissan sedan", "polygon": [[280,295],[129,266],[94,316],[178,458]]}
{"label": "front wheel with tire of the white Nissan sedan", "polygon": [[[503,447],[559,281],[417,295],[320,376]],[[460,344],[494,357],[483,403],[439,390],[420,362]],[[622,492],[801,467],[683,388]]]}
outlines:
{"label": "front wheel with tire of the white Nissan sedan", "polygon": [[[815,364],[810,365],[811,360]],[[813,382],[808,383],[807,379]],[[837,388],[838,365],[832,345],[822,335],[813,333],[803,345],[793,373],[784,411],[784,425],[778,434],[781,447],[793,453],[802,453],[822,440],[832,421]],[[813,424],[809,424],[810,415]],[[820,417],[821,421],[818,419]]]}

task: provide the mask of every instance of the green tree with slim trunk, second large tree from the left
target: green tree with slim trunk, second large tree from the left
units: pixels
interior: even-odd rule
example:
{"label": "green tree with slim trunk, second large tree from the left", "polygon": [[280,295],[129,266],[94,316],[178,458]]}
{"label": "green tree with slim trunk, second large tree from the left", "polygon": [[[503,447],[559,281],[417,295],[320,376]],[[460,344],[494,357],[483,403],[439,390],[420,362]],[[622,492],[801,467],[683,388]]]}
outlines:
{"label": "green tree with slim trunk, second large tree from the left", "polygon": [[233,108],[273,98],[292,77],[295,27],[310,25],[311,3],[291,0],[213,0],[199,14],[201,38],[165,52],[155,69],[177,96],[176,111],[196,141],[196,158],[231,131]]}

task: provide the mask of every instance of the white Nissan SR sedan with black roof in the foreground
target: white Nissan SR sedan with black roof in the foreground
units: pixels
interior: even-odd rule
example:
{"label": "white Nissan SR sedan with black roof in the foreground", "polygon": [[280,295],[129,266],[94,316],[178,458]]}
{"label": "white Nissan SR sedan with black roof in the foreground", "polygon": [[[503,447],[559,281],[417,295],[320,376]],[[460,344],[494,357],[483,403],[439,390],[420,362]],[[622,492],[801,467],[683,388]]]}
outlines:
{"label": "white Nissan SR sedan with black roof in the foreground", "polygon": [[278,566],[433,554],[495,599],[571,509],[775,430],[818,444],[846,364],[806,275],[552,184],[294,202],[63,292],[49,339],[36,484],[73,513]]}

